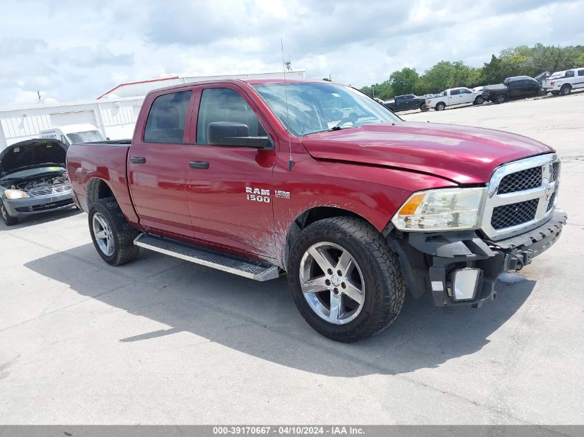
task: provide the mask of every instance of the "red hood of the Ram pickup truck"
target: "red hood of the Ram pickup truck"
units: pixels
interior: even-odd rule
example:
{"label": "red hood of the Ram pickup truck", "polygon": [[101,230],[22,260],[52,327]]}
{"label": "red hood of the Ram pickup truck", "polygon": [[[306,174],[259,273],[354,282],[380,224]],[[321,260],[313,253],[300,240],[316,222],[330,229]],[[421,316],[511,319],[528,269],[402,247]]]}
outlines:
{"label": "red hood of the Ram pickup truck", "polygon": [[316,159],[417,171],[458,184],[485,184],[505,162],[554,151],[500,130],[408,122],[317,133],[303,143]]}

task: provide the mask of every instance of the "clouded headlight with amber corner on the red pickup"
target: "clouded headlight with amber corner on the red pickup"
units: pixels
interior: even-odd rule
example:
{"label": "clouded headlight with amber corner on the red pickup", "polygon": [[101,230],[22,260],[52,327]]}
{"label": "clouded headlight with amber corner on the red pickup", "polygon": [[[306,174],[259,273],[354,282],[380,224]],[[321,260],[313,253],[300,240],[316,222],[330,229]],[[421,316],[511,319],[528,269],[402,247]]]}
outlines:
{"label": "clouded headlight with amber corner on the red pickup", "polygon": [[457,231],[479,226],[487,188],[440,188],[413,193],[391,219],[400,231]]}

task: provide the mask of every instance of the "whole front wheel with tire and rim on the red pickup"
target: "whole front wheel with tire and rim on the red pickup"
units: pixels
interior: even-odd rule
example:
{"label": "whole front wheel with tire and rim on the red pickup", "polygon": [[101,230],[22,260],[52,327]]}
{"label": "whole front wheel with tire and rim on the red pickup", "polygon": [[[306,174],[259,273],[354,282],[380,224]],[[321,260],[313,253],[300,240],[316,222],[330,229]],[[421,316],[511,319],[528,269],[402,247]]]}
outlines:
{"label": "whole front wheel with tire and rim on the red pickup", "polygon": [[356,342],[383,331],[404,303],[397,255],[377,229],[355,217],[306,226],[294,240],[287,271],[304,320],[335,341]]}

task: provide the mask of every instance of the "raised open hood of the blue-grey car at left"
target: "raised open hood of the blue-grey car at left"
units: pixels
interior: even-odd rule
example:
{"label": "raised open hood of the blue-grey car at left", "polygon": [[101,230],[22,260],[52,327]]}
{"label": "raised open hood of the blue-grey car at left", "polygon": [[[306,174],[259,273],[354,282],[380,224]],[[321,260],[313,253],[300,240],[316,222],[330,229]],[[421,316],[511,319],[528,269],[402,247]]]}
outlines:
{"label": "raised open hood of the blue-grey car at left", "polygon": [[65,166],[67,146],[58,139],[27,139],[0,151],[0,177],[23,168]]}

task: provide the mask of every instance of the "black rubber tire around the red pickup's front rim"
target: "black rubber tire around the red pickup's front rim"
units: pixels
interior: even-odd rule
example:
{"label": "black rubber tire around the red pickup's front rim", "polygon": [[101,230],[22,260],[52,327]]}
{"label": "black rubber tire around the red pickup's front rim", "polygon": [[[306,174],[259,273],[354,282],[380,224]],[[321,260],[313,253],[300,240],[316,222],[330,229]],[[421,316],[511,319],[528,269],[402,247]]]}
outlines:
{"label": "black rubber tire around the red pickup's front rim", "polygon": [[[319,242],[339,244],[359,265],[364,280],[364,303],[354,320],[333,324],[315,313],[301,290],[301,260]],[[370,224],[354,217],[319,220],[303,229],[288,258],[288,282],[302,317],[323,336],[338,342],[357,342],[386,329],[402,310],[406,284],[397,255]]]}

